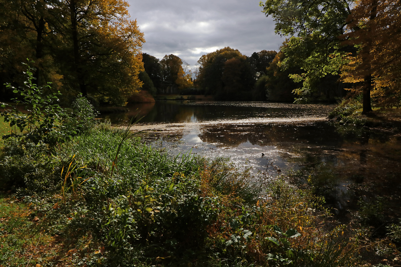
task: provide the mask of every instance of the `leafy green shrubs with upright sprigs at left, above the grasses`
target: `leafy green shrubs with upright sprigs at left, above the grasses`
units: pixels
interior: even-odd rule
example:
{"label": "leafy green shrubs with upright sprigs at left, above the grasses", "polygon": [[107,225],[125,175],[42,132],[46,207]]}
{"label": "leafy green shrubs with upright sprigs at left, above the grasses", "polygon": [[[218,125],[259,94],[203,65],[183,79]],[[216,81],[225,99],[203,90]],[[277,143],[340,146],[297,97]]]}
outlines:
{"label": "leafy green shrubs with upright sprigs at left, above the grasses", "polygon": [[[78,97],[73,102],[71,111],[63,110],[57,104],[61,93],[47,93],[46,91],[51,90],[50,84],[38,88],[32,82],[34,79],[32,68],[28,64],[25,65],[28,68],[24,72],[27,76],[25,85],[18,89],[10,84],[7,85],[14,93],[22,96],[22,99],[14,98],[15,106],[2,103],[2,107],[11,108],[1,113],[11,131],[2,139],[15,137],[18,142],[30,141],[34,144],[42,142],[55,145],[57,142],[71,139],[73,135],[88,130],[95,124],[97,112],[86,98]],[[27,113],[21,112],[17,108],[18,104],[26,105]]]}

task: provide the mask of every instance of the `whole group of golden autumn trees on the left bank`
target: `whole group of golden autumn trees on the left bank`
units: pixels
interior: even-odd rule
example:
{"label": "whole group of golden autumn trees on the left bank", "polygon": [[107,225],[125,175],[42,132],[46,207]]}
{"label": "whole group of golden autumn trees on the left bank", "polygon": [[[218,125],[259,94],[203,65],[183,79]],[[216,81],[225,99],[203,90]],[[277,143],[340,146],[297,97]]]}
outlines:
{"label": "whole group of golden autumn trees on the left bank", "polygon": [[0,97],[23,84],[33,60],[35,83],[52,82],[63,100],[79,93],[122,105],[141,86],[145,42],[123,0],[0,0]]}

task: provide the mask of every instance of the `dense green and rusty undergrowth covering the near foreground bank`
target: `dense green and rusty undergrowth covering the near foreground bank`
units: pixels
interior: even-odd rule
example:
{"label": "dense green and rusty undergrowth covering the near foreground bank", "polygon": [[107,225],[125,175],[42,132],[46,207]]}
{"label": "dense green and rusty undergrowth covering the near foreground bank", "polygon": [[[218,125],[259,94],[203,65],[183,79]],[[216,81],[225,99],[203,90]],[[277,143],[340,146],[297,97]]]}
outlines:
{"label": "dense green and rusty undergrowth covering the near foreground bank", "polygon": [[[1,266],[350,266],[323,199],[227,159],[170,157],[100,125],[58,146],[8,139]],[[118,147],[119,154],[115,160]],[[344,234],[345,231],[345,234]],[[36,249],[35,249],[36,247]]]}

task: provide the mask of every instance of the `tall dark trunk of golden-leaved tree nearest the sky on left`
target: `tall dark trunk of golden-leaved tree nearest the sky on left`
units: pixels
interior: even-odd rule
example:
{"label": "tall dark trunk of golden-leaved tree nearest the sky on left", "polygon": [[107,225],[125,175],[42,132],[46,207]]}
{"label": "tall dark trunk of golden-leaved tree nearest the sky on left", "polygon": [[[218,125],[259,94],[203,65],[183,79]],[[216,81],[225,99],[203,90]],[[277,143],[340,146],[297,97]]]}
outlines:
{"label": "tall dark trunk of golden-leaved tree nearest the sky on left", "polygon": [[73,37],[73,53],[74,53],[74,67],[77,73],[77,79],[79,84],[79,89],[83,96],[87,96],[85,79],[81,67],[81,60],[79,56],[79,42],[78,42],[78,30],[77,30],[77,12],[75,8],[75,0],[70,2],[70,16],[71,16],[71,32]]}

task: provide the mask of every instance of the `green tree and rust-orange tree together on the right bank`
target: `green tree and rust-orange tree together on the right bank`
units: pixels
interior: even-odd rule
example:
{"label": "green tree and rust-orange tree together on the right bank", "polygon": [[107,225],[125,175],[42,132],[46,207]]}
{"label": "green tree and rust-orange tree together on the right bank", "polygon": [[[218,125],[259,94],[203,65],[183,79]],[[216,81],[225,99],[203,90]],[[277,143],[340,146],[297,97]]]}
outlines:
{"label": "green tree and rust-orange tree together on the right bank", "polygon": [[371,100],[377,107],[401,106],[401,2],[267,0],[260,5],[275,20],[275,32],[290,37],[278,64],[300,82],[294,91],[298,102],[322,95],[331,80],[361,99],[363,113],[372,110]]}

